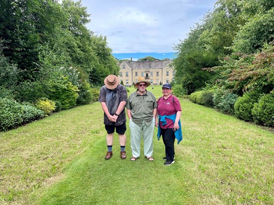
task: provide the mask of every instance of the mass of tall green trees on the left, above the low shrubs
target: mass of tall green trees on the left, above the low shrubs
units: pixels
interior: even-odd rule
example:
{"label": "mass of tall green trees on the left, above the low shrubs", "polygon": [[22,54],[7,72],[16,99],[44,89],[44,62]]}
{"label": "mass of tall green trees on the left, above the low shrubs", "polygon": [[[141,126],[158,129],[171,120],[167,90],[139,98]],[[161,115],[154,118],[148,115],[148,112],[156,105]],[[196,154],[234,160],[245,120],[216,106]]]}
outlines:
{"label": "mass of tall green trees on the left, above the low shrubs", "polygon": [[[117,75],[119,67],[106,37],[94,35],[85,26],[89,16],[81,1],[1,1],[0,68],[5,71],[1,72],[1,80],[7,79],[4,84],[39,82],[41,87],[50,87],[45,82],[48,79],[68,77],[79,89],[85,86],[75,82],[101,86],[106,75]],[[70,71],[60,71],[61,67]],[[84,74],[72,75],[78,72]]]}

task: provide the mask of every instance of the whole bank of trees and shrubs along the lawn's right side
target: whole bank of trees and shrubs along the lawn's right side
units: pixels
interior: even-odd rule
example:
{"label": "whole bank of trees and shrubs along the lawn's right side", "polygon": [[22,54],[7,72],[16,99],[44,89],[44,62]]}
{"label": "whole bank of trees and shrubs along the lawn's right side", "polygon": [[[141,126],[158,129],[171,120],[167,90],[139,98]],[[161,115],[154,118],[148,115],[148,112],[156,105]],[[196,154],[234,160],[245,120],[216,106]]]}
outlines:
{"label": "whole bank of trees and shrubs along the lawn's right side", "polygon": [[[217,0],[214,10],[175,46],[175,82],[188,95],[196,93],[190,96],[196,103],[203,104],[204,90],[214,90],[207,97],[215,108],[270,126],[252,112],[259,96],[274,92],[273,41],[274,1]],[[241,98],[247,92],[256,98]],[[268,103],[274,107],[271,98]],[[264,113],[274,117],[272,109]]]}

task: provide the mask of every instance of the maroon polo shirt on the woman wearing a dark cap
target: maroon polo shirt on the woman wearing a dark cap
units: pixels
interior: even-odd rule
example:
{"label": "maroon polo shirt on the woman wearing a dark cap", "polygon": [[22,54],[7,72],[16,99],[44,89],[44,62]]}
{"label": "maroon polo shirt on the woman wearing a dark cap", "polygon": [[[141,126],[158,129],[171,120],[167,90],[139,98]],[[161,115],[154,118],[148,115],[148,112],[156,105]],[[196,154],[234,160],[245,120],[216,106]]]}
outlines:
{"label": "maroon polo shirt on the woman wearing a dark cap", "polygon": [[[161,97],[157,101],[158,107],[157,111],[159,115],[173,115],[176,114],[177,111],[182,111],[181,104],[179,100],[174,96],[174,102],[173,102],[173,95],[170,95],[167,99],[164,99],[164,97]],[[162,122],[160,122],[160,127],[163,129],[167,128],[173,128],[174,124],[171,119],[166,118],[167,124],[162,125]]]}

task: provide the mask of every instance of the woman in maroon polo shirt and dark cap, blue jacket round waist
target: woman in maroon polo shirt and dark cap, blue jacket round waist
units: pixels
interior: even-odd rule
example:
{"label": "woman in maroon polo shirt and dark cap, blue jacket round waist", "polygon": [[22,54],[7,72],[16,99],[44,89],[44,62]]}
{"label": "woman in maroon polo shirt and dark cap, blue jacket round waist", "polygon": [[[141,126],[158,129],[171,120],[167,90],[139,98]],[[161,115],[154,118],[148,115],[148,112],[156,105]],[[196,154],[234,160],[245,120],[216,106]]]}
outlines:
{"label": "woman in maroon polo shirt and dark cap, blue jacket round waist", "polygon": [[[158,120],[156,126],[160,126],[160,130],[158,131],[158,138],[160,135],[163,136],[163,142],[165,144],[165,152],[166,156],[163,157],[166,162],[165,165],[171,165],[174,161],[174,141],[175,141],[175,132],[181,132],[181,104],[179,100],[171,94],[171,85],[166,83],[162,87],[163,97],[159,98],[157,103],[157,116],[160,116],[160,120],[158,124]],[[159,129],[159,128],[158,128]],[[182,134],[181,134],[182,137]],[[178,139],[178,138],[177,138]],[[178,141],[179,143],[179,141]]]}

